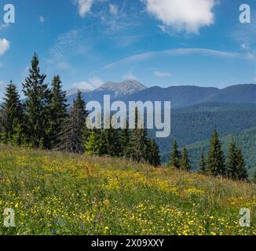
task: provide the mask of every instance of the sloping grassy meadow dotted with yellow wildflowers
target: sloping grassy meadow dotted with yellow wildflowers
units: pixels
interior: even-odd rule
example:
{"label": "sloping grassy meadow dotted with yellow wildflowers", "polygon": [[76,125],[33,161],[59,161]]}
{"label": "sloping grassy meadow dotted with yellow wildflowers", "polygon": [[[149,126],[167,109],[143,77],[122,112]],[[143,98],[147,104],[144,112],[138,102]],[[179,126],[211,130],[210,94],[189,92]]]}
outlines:
{"label": "sloping grassy meadow dotted with yellow wildflowers", "polygon": [[[256,186],[0,145],[0,235],[256,235]],[[251,227],[240,227],[240,209]]]}

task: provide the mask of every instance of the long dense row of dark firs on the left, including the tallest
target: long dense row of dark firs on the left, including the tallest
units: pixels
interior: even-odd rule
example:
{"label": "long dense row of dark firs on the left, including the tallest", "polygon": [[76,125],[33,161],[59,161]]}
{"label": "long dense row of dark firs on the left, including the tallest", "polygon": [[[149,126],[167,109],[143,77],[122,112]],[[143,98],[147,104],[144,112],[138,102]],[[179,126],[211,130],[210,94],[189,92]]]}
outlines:
{"label": "long dense row of dark firs on the left, including the tallest", "polygon": [[[159,147],[146,129],[87,129],[86,102],[79,91],[71,107],[67,105],[60,76],[46,84],[37,54],[32,57],[29,75],[22,85],[24,100],[11,81],[1,106],[0,140],[4,144],[89,155],[108,155],[161,164]],[[127,126],[126,126],[127,127]]]}

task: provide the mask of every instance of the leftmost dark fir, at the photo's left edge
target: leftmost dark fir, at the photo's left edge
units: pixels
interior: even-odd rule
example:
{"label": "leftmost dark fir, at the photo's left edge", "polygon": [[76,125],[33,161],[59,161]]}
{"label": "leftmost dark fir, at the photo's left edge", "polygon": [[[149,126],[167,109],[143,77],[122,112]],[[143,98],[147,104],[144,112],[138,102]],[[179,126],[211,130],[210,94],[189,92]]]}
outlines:
{"label": "leftmost dark fir, at the photo's left edge", "polygon": [[16,85],[9,82],[2,104],[1,139],[5,144],[25,144],[24,112]]}

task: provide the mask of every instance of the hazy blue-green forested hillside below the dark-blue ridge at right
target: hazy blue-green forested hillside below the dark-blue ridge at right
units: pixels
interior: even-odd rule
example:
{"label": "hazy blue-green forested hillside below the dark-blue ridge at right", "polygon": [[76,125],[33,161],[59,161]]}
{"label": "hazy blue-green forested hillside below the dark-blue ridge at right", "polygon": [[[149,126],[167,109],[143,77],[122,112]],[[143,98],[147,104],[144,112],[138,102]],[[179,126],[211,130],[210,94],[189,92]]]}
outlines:
{"label": "hazy blue-green forested hillside below the dark-blue ridge at right", "polygon": [[[170,137],[157,139],[160,151],[170,151],[174,139],[182,147],[210,139],[214,129],[221,136],[256,126],[256,105],[207,103],[171,111]],[[150,136],[155,133],[149,132]],[[255,152],[256,155],[256,152]],[[163,155],[167,162],[169,156]]]}

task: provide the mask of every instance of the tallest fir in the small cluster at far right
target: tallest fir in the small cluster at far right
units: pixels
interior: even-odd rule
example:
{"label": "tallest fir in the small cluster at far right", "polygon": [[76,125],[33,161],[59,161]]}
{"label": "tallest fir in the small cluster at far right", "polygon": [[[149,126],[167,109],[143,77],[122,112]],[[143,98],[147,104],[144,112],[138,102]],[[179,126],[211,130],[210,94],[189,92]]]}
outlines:
{"label": "tallest fir in the small cluster at far right", "polygon": [[218,138],[218,132],[214,129],[214,134],[210,140],[210,151],[207,159],[207,172],[212,176],[225,176],[225,157],[221,149],[221,140]]}

